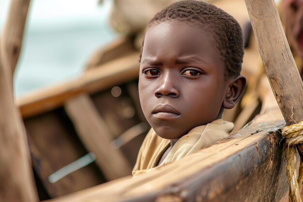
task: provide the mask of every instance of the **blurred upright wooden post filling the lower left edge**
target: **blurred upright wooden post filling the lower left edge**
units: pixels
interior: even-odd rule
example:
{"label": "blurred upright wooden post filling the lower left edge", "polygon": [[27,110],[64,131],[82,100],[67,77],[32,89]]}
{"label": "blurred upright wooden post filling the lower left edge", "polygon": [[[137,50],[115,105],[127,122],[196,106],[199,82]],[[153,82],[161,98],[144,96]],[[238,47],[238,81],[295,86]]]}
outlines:
{"label": "blurred upright wooden post filling the lower left edge", "polygon": [[0,201],[36,202],[23,123],[14,105],[12,77],[0,55]]}

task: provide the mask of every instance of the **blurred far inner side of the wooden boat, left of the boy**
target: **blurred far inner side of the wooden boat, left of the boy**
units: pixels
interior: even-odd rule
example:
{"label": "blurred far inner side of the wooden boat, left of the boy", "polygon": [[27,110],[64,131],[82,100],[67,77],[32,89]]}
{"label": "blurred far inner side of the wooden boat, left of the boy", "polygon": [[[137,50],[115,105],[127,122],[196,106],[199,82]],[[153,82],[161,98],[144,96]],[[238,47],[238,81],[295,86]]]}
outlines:
{"label": "blurred far inner side of the wooden boat, left of the boy", "polygon": [[[137,112],[137,57],[132,53],[81,78],[17,100],[36,179],[44,185],[46,196],[58,197],[131,173],[149,129]],[[55,177],[55,182],[50,179],[82,156],[89,158],[88,154],[93,155],[90,165],[65,171],[72,173],[60,180]]]}

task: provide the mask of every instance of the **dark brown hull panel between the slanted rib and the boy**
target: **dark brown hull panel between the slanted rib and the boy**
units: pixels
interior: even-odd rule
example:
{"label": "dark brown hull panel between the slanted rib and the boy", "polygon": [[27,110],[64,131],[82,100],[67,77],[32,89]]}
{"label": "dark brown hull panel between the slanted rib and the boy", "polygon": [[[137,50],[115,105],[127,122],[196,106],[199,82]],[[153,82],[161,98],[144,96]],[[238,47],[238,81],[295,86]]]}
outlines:
{"label": "dark brown hull panel between the slanted rib and the boy", "polygon": [[[134,130],[130,130],[130,128],[133,128],[140,123],[143,118],[145,119],[139,103],[137,85],[137,81],[135,80],[124,85],[115,86],[107,91],[91,95],[91,99],[97,111],[101,114],[110,134],[112,134],[115,139],[111,145],[114,146],[114,148],[117,145],[121,146],[122,153],[132,167],[136,163],[136,156],[146,132],[143,134],[136,133],[138,136],[124,145],[120,144],[122,143],[120,142],[120,138],[126,131],[131,132],[132,137],[134,137]],[[129,88],[129,86],[132,87]],[[112,92],[114,89],[118,92],[121,91],[121,94],[115,94],[114,91]],[[147,121],[146,123],[148,124]]]}

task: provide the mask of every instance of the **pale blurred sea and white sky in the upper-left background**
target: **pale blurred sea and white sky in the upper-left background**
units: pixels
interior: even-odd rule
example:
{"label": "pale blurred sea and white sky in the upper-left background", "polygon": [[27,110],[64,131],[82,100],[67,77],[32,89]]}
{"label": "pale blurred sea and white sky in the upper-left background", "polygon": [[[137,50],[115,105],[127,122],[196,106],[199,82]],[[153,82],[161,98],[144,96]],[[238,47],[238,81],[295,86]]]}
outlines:
{"label": "pale blurred sea and white sky in the upper-left background", "polygon": [[[8,7],[9,0],[0,0],[1,28]],[[110,7],[110,0],[103,6],[98,0],[31,0],[15,96],[80,76],[91,53],[117,37],[107,22]]]}

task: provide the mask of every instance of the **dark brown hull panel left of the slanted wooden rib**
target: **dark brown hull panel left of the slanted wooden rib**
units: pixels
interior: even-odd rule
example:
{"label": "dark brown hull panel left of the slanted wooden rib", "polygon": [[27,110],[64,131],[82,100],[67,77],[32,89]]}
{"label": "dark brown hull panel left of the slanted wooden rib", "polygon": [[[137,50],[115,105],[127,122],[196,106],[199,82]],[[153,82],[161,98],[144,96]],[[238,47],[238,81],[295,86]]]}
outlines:
{"label": "dark brown hull panel left of the slanted wooden rib", "polygon": [[49,176],[88,152],[77,138],[64,109],[24,120],[30,140],[33,168],[51,198],[106,182],[92,163],[53,182]]}

